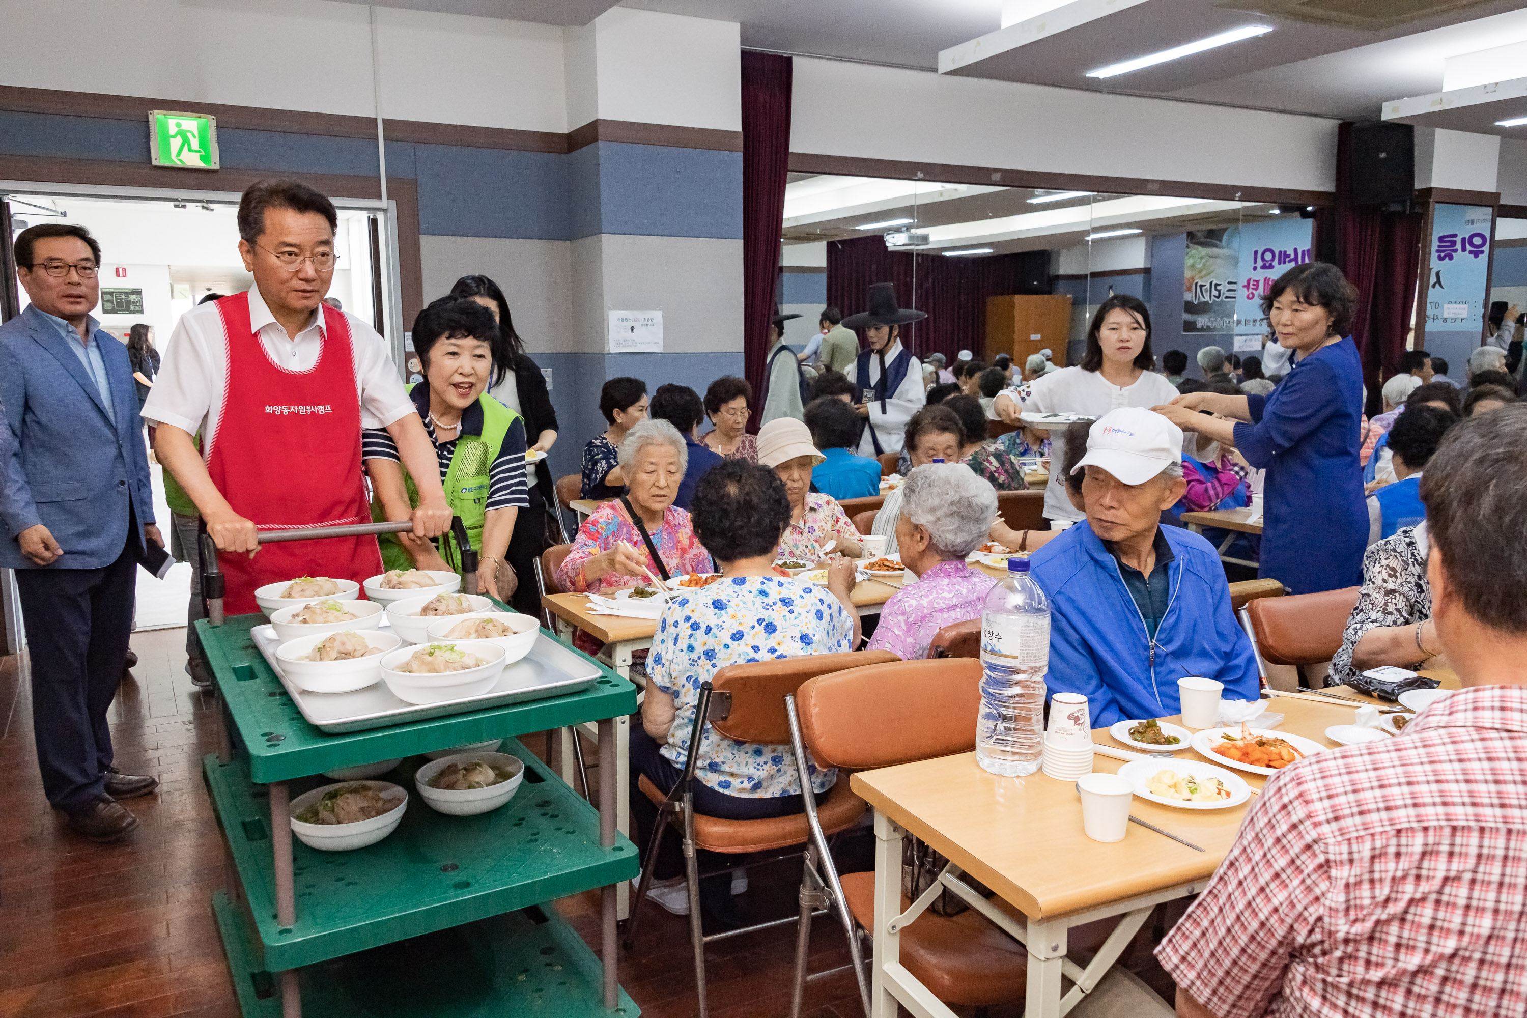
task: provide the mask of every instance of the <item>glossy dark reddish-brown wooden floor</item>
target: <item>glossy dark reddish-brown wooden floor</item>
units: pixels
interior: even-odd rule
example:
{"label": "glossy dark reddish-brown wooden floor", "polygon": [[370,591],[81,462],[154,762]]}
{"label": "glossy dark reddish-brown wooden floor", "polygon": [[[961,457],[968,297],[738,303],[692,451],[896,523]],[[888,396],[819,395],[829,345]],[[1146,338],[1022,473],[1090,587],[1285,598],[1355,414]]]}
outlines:
{"label": "glossy dark reddish-brown wooden floor", "polygon": [[[3,1018],[240,1013],[209,908],[212,891],[223,887],[223,855],[199,768],[215,749],[215,714],[212,697],[183,670],[183,629],[133,638],[139,665],[111,707],[116,765],[154,774],[162,784],[157,795],[125,803],[142,824],[119,846],[73,835],[49,809],[34,755],[24,659],[0,659]],[[760,917],[793,914],[797,882],[799,868],[788,864],[760,867],[742,900]],[[597,951],[596,894],[563,899],[557,908]],[[812,971],[847,963],[837,926],[818,920],[812,943]],[[709,946],[710,1013],[788,1015],[793,952],[793,926]],[[693,1015],[687,919],[646,910],[620,981],[643,1015]],[[811,1018],[860,1018],[852,972],[812,980],[806,1010]]]}

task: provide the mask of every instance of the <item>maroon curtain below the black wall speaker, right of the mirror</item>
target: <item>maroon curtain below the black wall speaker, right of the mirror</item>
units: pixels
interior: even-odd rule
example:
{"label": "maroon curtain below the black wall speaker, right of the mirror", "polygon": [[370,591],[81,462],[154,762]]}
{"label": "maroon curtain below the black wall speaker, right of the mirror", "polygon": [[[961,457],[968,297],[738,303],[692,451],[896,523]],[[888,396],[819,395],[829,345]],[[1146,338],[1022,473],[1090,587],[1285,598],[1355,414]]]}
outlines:
{"label": "maroon curtain below the black wall speaker, right of the mirror", "polygon": [[1336,203],[1316,215],[1315,232],[1318,240],[1330,237],[1335,264],[1358,288],[1351,337],[1362,356],[1371,417],[1383,409],[1380,386],[1405,353],[1420,272],[1422,215],[1353,203],[1351,127],[1344,122],[1338,128]]}

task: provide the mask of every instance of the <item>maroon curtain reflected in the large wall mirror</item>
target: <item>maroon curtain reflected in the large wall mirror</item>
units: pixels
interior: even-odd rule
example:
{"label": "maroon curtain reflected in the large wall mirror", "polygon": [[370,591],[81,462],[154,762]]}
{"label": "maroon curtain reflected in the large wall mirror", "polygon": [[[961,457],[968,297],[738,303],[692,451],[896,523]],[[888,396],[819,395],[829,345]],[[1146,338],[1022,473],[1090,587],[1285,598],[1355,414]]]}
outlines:
{"label": "maroon curtain reflected in the large wall mirror", "polygon": [[941,353],[950,363],[960,350],[980,356],[986,348],[986,298],[1049,293],[1048,273],[1046,250],[945,258],[892,253],[881,237],[828,241],[828,304],[847,317],[866,310],[872,282],[895,282],[901,307],[928,313],[901,327],[902,343],[919,357]]}

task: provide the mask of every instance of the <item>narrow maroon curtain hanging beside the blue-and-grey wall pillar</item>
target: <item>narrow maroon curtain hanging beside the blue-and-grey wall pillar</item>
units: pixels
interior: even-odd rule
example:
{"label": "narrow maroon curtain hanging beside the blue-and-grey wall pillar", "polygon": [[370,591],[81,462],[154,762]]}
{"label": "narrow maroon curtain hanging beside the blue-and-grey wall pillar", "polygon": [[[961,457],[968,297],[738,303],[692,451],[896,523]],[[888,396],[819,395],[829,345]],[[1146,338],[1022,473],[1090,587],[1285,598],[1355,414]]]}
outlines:
{"label": "narrow maroon curtain hanging beside the blue-and-grey wall pillar", "polygon": [[[789,56],[742,52],[742,365],[759,411],[779,278],[779,234],[785,223],[789,85]],[[757,421],[757,414],[751,421]]]}

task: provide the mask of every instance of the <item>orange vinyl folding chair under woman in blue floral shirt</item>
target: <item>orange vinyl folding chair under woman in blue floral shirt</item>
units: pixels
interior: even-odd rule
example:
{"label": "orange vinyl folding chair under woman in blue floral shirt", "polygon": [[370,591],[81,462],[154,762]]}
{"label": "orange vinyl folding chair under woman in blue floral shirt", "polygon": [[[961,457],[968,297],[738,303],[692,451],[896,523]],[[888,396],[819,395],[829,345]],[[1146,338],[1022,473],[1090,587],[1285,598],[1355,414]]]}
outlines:
{"label": "orange vinyl folding chair under woman in blue floral shirt", "polygon": [[[815,804],[812,803],[812,820],[808,826],[806,813],[793,817],[774,817],[768,820],[721,820],[702,817],[693,809],[695,768],[699,763],[699,745],[704,726],[709,723],[718,734],[738,742],[759,745],[791,743],[793,725],[785,713],[785,701],[794,696],[802,682],[818,675],[841,672],[860,664],[892,664],[896,655],[889,650],[861,650],[851,653],[818,653],[796,658],[779,658],[774,661],[756,661],[753,664],[731,664],[718,668],[709,682],[699,687],[699,702],[695,707],[695,725],[690,730],[689,754],[684,760],[683,777],[673,791],[664,795],[643,775],[638,780],[641,792],[658,807],[658,823],[652,829],[652,839],[647,846],[646,862],[641,867],[641,884],[637,887],[637,897],[631,904],[631,919],[626,923],[623,946],[629,951],[637,936],[637,919],[641,905],[646,902],[647,890],[652,885],[652,868],[657,865],[658,850],[669,827],[683,838],[684,865],[689,881],[689,934],[690,946],[695,952],[695,986],[699,992],[699,1015],[705,1018],[705,943],[719,937],[731,937],[748,929],[773,926],[777,923],[760,923],[745,929],[731,929],[719,934],[705,934],[699,914],[699,865],[695,858],[696,849],[718,852],[724,855],[748,855],[754,852],[771,852],[777,849],[793,849],[808,846],[815,832],[822,836],[844,830],[858,823],[864,813],[864,800],[849,791],[847,778],[834,783],[832,789]],[[976,722],[971,719],[974,737]],[[806,772],[797,754],[800,774]],[[811,795],[811,781],[802,781],[806,795]],[[794,855],[794,853],[791,853]],[[806,849],[806,864],[802,873],[802,894],[812,879],[812,855]],[[843,900],[840,896],[838,902]],[[806,907],[811,913],[811,907]],[[854,922],[840,908],[843,928],[849,931],[849,949],[858,957],[858,934],[854,933]],[[863,983],[863,966],[860,966]],[[861,986],[864,1000],[869,991]]]}

